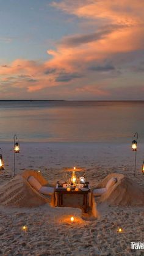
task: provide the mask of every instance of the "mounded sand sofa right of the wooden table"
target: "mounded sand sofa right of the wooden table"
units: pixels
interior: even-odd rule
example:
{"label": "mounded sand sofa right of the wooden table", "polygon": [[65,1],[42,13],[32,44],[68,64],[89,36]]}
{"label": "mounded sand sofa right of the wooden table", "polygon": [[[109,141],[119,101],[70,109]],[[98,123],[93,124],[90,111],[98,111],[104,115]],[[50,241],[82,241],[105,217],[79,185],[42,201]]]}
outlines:
{"label": "mounded sand sofa right of the wooden table", "polygon": [[[117,178],[117,182],[112,185],[111,178]],[[110,181],[111,180],[111,181]],[[109,182],[110,181],[110,182]],[[111,184],[110,184],[111,183]],[[107,188],[103,194],[99,196],[98,189]],[[104,203],[104,205],[122,205],[131,207],[143,207],[144,206],[144,188],[137,184],[135,180],[124,176],[123,174],[112,173],[106,176],[104,180],[98,183],[95,189],[93,189],[92,196],[92,212],[93,216],[98,217],[97,206]],[[100,191],[101,192],[101,191]]]}

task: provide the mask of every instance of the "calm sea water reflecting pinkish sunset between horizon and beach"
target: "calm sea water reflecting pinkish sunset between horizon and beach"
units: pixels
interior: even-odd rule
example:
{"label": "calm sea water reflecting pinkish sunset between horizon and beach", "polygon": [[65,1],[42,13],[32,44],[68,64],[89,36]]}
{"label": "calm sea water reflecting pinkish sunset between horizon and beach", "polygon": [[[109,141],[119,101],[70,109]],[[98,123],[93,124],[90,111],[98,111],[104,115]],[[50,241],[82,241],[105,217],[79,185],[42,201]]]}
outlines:
{"label": "calm sea water reflecting pinkish sunset between horizon and beach", "polygon": [[144,101],[0,101],[0,139],[144,142]]}

